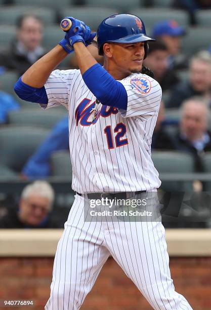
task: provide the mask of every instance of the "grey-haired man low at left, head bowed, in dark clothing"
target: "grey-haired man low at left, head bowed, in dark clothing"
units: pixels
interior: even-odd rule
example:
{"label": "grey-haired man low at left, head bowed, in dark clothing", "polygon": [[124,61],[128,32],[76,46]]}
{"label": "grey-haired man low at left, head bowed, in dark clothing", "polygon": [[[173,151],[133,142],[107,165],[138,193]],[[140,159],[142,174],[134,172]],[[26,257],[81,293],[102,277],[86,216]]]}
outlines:
{"label": "grey-haired man low at left, head bowed, in dark clothing", "polygon": [[50,212],[54,203],[54,190],[46,181],[35,181],[27,185],[17,209],[11,208],[0,219],[0,228],[59,228]]}

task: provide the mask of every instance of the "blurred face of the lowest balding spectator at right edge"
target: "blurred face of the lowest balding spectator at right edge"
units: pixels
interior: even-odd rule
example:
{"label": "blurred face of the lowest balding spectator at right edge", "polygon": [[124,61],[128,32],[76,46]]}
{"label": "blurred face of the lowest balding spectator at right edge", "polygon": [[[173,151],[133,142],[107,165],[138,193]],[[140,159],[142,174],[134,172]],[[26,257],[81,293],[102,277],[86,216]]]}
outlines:
{"label": "blurred face of the lowest balding spectator at right edge", "polygon": [[184,106],[181,121],[181,131],[188,140],[200,139],[207,130],[207,120],[204,106],[189,102]]}

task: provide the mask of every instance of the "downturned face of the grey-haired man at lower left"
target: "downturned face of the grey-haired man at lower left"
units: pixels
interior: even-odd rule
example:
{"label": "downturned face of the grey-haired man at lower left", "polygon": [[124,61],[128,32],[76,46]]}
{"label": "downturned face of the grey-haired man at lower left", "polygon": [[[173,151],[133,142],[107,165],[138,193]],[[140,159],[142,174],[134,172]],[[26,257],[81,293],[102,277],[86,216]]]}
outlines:
{"label": "downturned face of the grey-haired man at lower left", "polygon": [[48,198],[37,195],[30,195],[27,199],[20,202],[19,218],[25,224],[39,225],[50,211]]}

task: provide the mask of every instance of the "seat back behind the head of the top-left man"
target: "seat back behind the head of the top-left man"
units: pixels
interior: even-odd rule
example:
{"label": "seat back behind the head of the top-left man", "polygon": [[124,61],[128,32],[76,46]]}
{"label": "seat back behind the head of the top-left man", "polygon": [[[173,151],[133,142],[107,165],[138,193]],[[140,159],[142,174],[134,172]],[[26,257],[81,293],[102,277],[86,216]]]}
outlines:
{"label": "seat back behind the head of the top-left man", "polygon": [[3,6],[0,10],[0,24],[15,25],[19,16],[28,13],[37,15],[45,24],[54,24],[57,22],[56,13],[50,8]]}

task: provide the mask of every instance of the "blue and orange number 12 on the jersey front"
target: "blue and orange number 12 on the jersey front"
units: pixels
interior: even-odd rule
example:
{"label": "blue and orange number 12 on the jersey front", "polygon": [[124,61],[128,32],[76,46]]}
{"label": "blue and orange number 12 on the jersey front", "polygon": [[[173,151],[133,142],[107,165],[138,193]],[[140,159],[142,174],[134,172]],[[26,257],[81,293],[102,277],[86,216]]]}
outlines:
{"label": "blue and orange number 12 on the jersey front", "polygon": [[[126,133],[126,126],[123,123],[118,123],[114,128],[114,132],[116,133],[115,147],[128,144],[128,139],[127,138],[123,139],[123,136]],[[104,133],[106,134],[108,148],[109,149],[114,148],[111,126],[106,126],[106,128],[104,129]]]}

